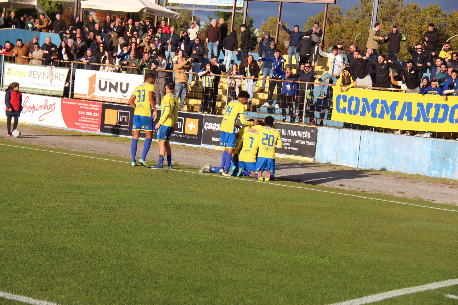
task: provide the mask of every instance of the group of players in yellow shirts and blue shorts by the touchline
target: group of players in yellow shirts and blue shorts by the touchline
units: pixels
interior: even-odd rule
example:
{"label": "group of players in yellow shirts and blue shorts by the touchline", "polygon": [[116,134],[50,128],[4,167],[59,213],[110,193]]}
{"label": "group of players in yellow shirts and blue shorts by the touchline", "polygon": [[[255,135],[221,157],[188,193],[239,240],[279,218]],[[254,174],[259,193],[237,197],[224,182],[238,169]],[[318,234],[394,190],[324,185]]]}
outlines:
{"label": "group of players in yellow shirts and blue shorts by the touchline", "polygon": [[[134,122],[132,125],[131,164],[136,163],[136,151],[140,131],[145,132],[142,158],[138,164],[150,167],[146,155],[153,139],[153,121],[158,114],[154,99],[153,73],[145,75],[145,82],[138,85],[129,99],[129,104],[134,108]],[[170,136],[175,131],[178,121],[179,101],[173,94],[175,84],[170,81],[165,84],[166,94],[161,101],[161,116],[154,129],[158,131],[159,160],[158,165],[152,169],[163,169],[164,156],[167,156],[167,167],[172,169],[172,149]],[[224,117],[220,125],[220,146],[224,148],[221,158],[221,167],[213,167],[207,163],[199,170],[201,173],[219,173],[223,176],[246,176],[263,180],[262,172],[267,170],[264,181],[275,178],[275,146],[282,147],[280,132],[274,128],[274,119],[267,116],[262,120],[245,120],[245,104],[250,95],[240,91],[239,97],[228,103],[224,110]],[[237,119],[241,124],[237,125]],[[236,128],[238,132],[236,132]]]}

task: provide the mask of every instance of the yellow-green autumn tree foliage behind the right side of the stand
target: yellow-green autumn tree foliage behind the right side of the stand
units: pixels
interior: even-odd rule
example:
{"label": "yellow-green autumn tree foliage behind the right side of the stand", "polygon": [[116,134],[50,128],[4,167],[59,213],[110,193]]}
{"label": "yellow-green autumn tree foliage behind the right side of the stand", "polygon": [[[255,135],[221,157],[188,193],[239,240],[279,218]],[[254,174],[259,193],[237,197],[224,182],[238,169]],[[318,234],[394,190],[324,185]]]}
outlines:
{"label": "yellow-green autumn tree foliage behind the right side of the stand", "polygon": [[[350,44],[356,39],[356,45],[360,50],[365,49],[367,42],[372,13],[372,1],[360,0],[359,5],[356,3],[353,7],[342,13],[342,8],[333,5],[329,8],[327,17],[326,39],[327,47],[336,44],[342,44],[345,50],[348,50]],[[324,11],[316,16],[310,17],[304,23],[304,30],[310,29],[315,20],[322,24]],[[398,54],[399,60],[410,59],[410,54],[407,51],[408,46],[415,45],[421,42],[421,38],[428,30],[428,23],[432,22],[436,25],[439,33],[437,49],[442,48],[442,44],[447,38],[456,34],[456,25],[458,24],[458,11],[442,11],[440,5],[428,5],[421,7],[418,3],[409,3],[404,5],[403,0],[381,0],[379,5],[378,22],[382,24],[379,31],[380,36],[385,36],[391,32],[392,26],[397,25],[399,32],[407,37],[406,42],[401,42],[401,50]],[[452,40],[455,44],[457,38]],[[387,44],[382,44],[378,53],[386,53]]]}

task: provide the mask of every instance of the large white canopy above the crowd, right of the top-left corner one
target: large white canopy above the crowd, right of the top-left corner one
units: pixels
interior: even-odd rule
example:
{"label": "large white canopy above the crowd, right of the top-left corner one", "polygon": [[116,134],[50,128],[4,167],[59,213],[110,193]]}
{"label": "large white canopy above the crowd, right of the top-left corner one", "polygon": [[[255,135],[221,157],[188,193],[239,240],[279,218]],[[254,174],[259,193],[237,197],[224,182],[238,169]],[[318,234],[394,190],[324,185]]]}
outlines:
{"label": "large white canopy above the crowd, right of the top-left corner one", "polygon": [[[1,1],[1,0],[0,0]],[[180,13],[166,9],[150,0],[86,0],[81,1],[81,7],[88,11],[103,11],[107,13],[131,12],[178,19]]]}

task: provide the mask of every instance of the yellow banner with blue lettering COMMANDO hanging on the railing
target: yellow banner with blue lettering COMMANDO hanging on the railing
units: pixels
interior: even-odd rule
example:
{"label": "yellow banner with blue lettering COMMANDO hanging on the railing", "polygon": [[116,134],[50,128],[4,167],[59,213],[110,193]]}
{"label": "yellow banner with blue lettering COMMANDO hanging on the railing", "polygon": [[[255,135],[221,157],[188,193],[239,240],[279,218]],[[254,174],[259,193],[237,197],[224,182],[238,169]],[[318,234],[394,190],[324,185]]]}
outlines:
{"label": "yellow banner with blue lettering COMMANDO hanging on the railing", "polygon": [[332,120],[412,131],[458,132],[458,96],[333,87]]}

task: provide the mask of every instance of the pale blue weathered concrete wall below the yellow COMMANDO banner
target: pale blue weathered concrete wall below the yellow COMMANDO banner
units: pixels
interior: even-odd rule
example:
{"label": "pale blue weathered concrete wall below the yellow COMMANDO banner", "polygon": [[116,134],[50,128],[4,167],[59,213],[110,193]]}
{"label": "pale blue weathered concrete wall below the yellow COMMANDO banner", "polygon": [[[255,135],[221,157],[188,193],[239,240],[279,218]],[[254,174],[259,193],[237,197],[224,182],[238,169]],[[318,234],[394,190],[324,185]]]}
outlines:
{"label": "pale blue weathered concrete wall below the yellow COMMANDO banner", "polygon": [[315,161],[458,180],[458,141],[319,127]]}

